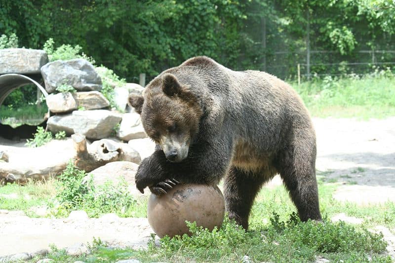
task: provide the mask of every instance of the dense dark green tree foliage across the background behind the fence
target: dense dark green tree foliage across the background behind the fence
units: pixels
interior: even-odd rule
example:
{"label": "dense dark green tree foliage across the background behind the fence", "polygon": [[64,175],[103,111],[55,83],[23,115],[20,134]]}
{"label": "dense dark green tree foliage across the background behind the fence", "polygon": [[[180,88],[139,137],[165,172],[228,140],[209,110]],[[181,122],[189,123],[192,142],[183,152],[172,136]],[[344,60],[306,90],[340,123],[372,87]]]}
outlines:
{"label": "dense dark green tree foliage across the background behind the fence", "polygon": [[312,54],[317,73],[371,60],[359,50],[395,49],[393,0],[0,0],[0,17],[0,35],[20,46],[78,44],[129,81],[196,55],[287,77],[307,44],[333,52]]}

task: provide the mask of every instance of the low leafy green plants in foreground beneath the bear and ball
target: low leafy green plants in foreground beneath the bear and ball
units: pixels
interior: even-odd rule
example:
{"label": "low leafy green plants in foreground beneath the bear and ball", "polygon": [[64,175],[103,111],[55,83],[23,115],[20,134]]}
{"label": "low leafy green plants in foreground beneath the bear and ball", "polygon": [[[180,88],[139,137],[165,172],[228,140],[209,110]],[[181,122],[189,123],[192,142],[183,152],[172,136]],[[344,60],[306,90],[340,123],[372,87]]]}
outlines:
{"label": "low leafy green plants in foreground beneath the bear and ball", "polygon": [[227,218],[221,228],[213,231],[187,223],[192,236],[163,237],[160,248],[152,241],[143,258],[155,255],[155,260],[169,262],[241,262],[248,255],[253,262],[309,262],[322,255],[352,262],[367,261],[373,255],[381,262],[391,262],[380,254],[387,245],[382,234],[344,222],[301,222],[295,213],[286,221],[279,218],[274,213],[271,224],[249,231]]}

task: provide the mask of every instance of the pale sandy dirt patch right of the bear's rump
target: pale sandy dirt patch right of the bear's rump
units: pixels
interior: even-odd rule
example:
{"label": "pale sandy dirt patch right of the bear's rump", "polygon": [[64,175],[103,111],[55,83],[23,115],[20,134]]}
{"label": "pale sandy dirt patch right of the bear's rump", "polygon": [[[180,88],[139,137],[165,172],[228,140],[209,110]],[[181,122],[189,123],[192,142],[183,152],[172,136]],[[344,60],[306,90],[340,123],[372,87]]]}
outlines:
{"label": "pale sandy dirt patch right of the bear's rump", "polygon": [[344,183],[335,199],[360,205],[395,201],[395,117],[315,118],[314,124],[317,174]]}

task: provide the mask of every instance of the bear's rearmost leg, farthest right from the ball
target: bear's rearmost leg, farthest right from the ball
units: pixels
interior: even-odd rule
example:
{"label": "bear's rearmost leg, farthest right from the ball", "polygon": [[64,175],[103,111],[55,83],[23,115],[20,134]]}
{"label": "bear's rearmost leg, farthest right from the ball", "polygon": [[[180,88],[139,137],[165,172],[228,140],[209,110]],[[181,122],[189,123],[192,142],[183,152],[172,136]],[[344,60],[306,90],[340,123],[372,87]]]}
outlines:
{"label": "bear's rearmost leg, farthest right from the ball", "polygon": [[301,221],[322,220],[318,205],[315,163],[315,145],[308,150],[290,147],[278,160],[277,169]]}

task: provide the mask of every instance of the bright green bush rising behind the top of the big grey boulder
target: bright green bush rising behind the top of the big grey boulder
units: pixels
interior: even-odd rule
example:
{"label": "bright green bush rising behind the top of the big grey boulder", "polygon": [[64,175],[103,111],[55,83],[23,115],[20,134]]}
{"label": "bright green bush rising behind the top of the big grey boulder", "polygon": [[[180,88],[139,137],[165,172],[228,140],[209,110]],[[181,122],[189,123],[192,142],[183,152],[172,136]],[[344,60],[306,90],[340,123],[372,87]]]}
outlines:
{"label": "bright green bush rising behind the top of the big grey boulder", "polygon": [[83,58],[92,64],[95,64],[95,60],[92,57],[88,57],[86,54],[81,52],[82,47],[79,45],[61,45],[58,48],[54,48],[55,41],[53,38],[49,38],[45,43],[43,50],[48,54],[48,59],[50,62],[55,60],[70,60],[75,58]]}

